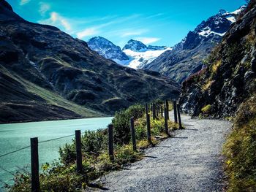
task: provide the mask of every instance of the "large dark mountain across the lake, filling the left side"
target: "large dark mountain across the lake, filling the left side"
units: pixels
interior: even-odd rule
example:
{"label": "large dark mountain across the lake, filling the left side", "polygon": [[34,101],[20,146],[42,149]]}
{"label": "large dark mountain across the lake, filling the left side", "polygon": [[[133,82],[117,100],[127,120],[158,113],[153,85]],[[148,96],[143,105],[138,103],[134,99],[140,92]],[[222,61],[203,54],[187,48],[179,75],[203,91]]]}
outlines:
{"label": "large dark mountain across the lake, filling the left side", "polygon": [[23,20],[4,0],[0,39],[0,123],[110,115],[180,90],[157,72],[103,58],[59,28]]}

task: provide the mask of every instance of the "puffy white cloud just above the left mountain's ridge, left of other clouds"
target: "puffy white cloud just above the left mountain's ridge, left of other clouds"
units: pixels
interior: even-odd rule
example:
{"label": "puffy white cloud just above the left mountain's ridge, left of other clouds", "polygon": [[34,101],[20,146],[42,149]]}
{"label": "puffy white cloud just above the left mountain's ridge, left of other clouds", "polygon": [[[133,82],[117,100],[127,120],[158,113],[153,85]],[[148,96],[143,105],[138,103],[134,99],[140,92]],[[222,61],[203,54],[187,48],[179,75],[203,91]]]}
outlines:
{"label": "puffy white cloud just above the left mountain's ridge, left of other clouds", "polygon": [[61,15],[59,15],[58,12],[51,12],[50,18],[48,18],[47,20],[39,20],[39,23],[48,24],[52,26],[61,26],[65,29],[65,31],[72,30],[72,26],[68,22],[67,18],[64,18]]}

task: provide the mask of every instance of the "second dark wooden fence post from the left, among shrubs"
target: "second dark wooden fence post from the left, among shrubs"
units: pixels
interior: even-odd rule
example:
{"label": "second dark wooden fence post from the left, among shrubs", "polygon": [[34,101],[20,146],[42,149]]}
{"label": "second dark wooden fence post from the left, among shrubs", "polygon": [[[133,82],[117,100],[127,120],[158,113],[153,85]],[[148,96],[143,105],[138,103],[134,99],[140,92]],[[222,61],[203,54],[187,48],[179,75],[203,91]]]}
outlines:
{"label": "second dark wooden fence post from the left, among shrubs", "polygon": [[81,145],[81,131],[75,130],[75,149],[76,149],[76,157],[77,157],[77,172],[81,173],[83,171],[82,164],[82,145]]}

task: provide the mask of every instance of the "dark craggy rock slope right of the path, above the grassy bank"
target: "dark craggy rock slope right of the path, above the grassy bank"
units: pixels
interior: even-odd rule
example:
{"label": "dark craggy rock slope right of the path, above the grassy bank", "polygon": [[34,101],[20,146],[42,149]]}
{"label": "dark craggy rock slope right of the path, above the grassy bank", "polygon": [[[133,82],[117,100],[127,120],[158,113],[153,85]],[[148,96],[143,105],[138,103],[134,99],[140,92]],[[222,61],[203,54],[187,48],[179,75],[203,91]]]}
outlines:
{"label": "dark craggy rock slope right of the path, above the grassy bank", "polygon": [[256,93],[256,3],[251,1],[214,48],[207,68],[183,82],[181,107],[192,115],[223,118]]}

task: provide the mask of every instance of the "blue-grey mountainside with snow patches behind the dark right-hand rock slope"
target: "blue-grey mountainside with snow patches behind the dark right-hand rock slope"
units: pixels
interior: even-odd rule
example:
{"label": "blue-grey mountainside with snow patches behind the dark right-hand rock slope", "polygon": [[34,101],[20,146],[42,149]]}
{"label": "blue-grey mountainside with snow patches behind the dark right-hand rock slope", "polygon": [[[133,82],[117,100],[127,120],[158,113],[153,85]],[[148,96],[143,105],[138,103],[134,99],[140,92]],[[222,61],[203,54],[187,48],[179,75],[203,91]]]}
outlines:
{"label": "blue-grey mountainside with snow patches behind the dark right-hand rock slope", "polygon": [[244,8],[240,7],[235,12],[220,10],[217,15],[200,23],[194,31],[189,31],[187,37],[175,45],[173,50],[162,53],[154,61],[143,66],[143,69],[154,70],[179,83],[183,82],[189,75],[204,67],[203,61]]}

